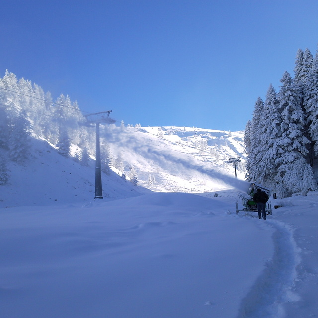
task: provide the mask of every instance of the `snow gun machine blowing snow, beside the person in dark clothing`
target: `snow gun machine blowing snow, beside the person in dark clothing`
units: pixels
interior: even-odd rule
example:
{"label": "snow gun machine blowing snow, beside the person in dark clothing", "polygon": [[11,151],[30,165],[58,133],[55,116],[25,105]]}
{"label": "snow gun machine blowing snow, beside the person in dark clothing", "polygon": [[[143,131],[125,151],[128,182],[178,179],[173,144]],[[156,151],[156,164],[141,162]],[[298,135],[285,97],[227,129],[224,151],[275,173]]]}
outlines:
{"label": "snow gun machine blowing snow, beside the person in dark clothing", "polygon": [[[247,215],[247,212],[252,212],[257,211],[257,205],[256,202],[253,201],[253,196],[257,192],[257,189],[261,189],[264,191],[268,197],[270,198],[271,196],[271,190],[263,187],[262,185],[256,184],[256,183],[251,183],[248,190],[246,191],[246,194],[239,194],[239,197],[242,199],[242,204],[244,206],[243,209],[239,210],[238,207],[238,202],[236,204],[236,213],[238,214],[240,211],[245,212],[245,216]],[[272,214],[272,204],[270,202],[266,203],[266,214],[271,215]]]}

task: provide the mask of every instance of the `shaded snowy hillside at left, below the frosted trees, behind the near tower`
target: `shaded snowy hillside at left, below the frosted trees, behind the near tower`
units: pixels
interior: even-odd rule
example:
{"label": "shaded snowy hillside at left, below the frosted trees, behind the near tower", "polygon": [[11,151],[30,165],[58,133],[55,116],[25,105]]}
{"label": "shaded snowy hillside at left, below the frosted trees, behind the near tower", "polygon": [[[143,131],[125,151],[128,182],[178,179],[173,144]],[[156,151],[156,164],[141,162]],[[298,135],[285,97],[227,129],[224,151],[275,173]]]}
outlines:
{"label": "shaded snowy hillside at left, below the frosted trees, behind the near tower", "polygon": [[[94,161],[82,166],[61,156],[47,142],[32,139],[32,156],[23,164],[10,163],[9,182],[0,186],[0,207],[87,203],[95,195]],[[131,197],[149,190],[133,186],[116,173],[103,174],[103,197]]]}

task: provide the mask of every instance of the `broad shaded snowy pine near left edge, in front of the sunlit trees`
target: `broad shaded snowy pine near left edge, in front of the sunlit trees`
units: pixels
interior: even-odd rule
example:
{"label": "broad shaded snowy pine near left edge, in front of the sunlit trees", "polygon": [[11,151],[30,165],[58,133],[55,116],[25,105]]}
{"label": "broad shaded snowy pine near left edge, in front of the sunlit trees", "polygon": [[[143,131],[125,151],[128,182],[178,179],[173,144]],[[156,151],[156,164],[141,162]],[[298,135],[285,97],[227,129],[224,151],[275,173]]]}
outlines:
{"label": "broad shaded snowy pine near left edge, in front of the sunlit trees", "polygon": [[23,162],[30,156],[30,131],[30,122],[24,111],[11,119],[8,148],[12,161]]}

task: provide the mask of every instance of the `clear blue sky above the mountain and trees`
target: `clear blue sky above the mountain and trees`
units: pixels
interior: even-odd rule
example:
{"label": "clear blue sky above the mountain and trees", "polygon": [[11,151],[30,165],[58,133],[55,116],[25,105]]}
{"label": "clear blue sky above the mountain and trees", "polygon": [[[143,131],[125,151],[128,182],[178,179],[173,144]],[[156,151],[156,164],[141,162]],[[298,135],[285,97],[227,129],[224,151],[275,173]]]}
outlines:
{"label": "clear blue sky above the mountain and trees", "polygon": [[315,55],[317,0],[2,0],[5,69],[142,126],[243,130],[258,96]]}

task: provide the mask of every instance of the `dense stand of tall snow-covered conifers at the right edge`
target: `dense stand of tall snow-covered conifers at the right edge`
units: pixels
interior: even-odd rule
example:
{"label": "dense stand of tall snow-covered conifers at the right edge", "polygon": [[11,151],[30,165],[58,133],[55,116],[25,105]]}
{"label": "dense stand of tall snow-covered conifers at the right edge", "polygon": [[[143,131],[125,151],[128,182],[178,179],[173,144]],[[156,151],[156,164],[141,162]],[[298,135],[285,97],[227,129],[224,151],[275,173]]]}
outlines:
{"label": "dense stand of tall snow-covered conifers at the right edge", "polygon": [[318,181],[318,51],[296,54],[294,78],[287,71],[280,90],[269,85],[255,102],[244,143],[247,180],[280,197],[306,195]]}

